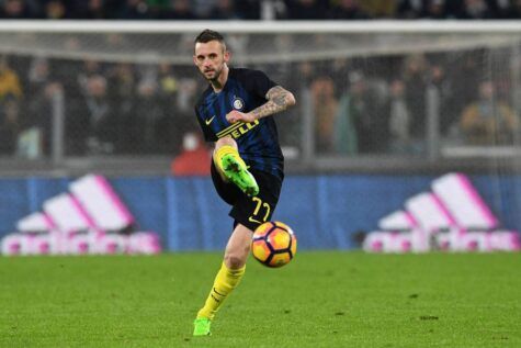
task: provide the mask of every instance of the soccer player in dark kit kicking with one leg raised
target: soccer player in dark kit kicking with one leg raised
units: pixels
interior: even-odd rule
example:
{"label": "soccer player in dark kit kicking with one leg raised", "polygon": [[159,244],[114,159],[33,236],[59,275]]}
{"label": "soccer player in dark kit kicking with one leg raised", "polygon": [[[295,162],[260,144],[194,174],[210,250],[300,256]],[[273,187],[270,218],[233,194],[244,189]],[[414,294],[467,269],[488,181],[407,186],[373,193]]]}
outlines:
{"label": "soccer player in dark kit kicking with one leg raised", "polygon": [[234,231],[224,261],[204,306],[194,321],[194,336],[211,335],[209,325],[224,300],[245,274],[253,231],[269,221],[284,178],[273,114],[295,104],[291,92],[259,70],[228,67],[223,36],[211,30],[195,38],[193,61],[208,88],[195,105],[207,142],[215,142],[212,180],[231,205]]}

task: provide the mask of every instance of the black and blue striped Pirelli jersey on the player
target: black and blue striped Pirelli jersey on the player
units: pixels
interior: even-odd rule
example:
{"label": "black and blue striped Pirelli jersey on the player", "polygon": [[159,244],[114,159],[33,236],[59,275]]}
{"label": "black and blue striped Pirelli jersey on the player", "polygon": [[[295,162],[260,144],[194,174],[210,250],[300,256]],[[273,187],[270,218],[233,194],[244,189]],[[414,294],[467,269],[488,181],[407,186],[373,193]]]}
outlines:
{"label": "black and blue striped Pirelli jersey on the player", "polygon": [[274,86],[276,83],[262,71],[229,68],[223,90],[216,93],[208,86],[195,105],[195,114],[206,142],[230,135],[248,166],[282,179],[284,157],[273,116],[250,123],[231,124],[226,120],[226,114],[234,109],[247,113],[264,104],[267,92]]}

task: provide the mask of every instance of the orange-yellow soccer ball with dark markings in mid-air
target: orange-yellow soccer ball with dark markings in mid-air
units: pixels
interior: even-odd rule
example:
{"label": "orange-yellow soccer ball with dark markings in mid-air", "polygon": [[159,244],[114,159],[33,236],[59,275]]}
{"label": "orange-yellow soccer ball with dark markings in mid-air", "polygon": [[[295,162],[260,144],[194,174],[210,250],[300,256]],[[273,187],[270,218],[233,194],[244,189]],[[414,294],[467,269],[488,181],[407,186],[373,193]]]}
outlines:
{"label": "orange-yellow soccer ball with dark markings in mid-air", "polygon": [[281,222],[263,223],[253,233],[251,252],[264,266],[282,267],[296,254],[295,234]]}

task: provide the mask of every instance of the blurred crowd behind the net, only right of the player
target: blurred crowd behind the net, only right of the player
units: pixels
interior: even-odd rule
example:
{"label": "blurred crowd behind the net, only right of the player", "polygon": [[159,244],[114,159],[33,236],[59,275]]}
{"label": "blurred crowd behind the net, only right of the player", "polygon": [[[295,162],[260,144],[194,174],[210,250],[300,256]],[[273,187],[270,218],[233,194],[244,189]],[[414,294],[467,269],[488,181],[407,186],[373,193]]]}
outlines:
{"label": "blurred crowd behind the net, only right of the player", "polygon": [[432,136],[449,146],[519,144],[517,82],[508,69],[488,69],[508,65],[505,56],[473,49],[320,65],[299,66],[319,153],[424,156]]}

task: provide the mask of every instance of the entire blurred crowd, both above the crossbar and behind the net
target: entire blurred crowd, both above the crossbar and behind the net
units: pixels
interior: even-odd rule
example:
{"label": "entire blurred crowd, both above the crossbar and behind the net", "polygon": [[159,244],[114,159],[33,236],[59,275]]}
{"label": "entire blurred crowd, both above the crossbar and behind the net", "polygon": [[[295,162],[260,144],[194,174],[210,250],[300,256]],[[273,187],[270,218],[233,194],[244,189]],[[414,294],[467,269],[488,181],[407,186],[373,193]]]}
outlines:
{"label": "entire blurred crowd, both above the crossbar and behind the net", "polygon": [[[0,0],[3,19],[511,19],[509,0]],[[288,37],[279,37],[286,43]],[[306,37],[308,40],[309,37]],[[315,37],[319,40],[319,35]],[[306,43],[302,43],[306,45]],[[501,50],[502,49],[502,50]],[[513,56],[512,56],[513,55]],[[240,54],[238,55],[240,56]],[[520,144],[521,58],[511,48],[324,58],[248,65],[292,90],[298,108],[278,120],[284,146],[302,145],[303,114],[328,154],[422,155],[445,144]],[[0,57],[0,156],[48,156],[63,122],[66,156],[205,157],[193,105],[205,81],[186,64]],[[64,109],[60,121],[57,110]],[[435,124],[432,124],[432,123]],[[204,159],[206,161],[206,159]],[[204,168],[203,168],[204,169]]]}

